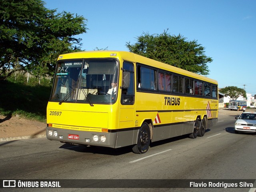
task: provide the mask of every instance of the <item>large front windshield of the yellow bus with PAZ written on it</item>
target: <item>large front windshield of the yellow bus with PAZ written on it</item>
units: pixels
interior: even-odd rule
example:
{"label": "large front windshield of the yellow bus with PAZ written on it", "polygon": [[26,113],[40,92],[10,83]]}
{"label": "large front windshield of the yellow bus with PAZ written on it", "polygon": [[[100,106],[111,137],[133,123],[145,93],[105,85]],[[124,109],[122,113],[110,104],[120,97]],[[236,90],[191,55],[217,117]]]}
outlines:
{"label": "large front windshield of the yellow bus with PAZ written on it", "polygon": [[60,102],[113,103],[118,85],[118,61],[60,60],[50,100]]}

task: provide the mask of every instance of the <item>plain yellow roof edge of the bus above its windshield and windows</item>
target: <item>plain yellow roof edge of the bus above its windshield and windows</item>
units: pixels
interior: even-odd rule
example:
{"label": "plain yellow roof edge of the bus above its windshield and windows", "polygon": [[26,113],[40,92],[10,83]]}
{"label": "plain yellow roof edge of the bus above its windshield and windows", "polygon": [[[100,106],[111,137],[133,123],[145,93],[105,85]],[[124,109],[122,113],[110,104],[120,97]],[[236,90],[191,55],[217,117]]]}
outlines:
{"label": "plain yellow roof edge of the bus above its windshield and windows", "polygon": [[[110,55],[111,54],[111,55]],[[58,57],[58,60],[62,59],[76,59],[76,58],[120,58],[120,60],[127,60],[131,62],[137,62],[141,64],[146,64],[152,67],[161,68],[162,70],[168,70],[177,74],[181,74],[184,76],[189,76],[192,78],[196,78],[202,81],[210,82],[213,84],[218,84],[216,80],[211,78],[186,71],[184,69],[180,69],[169,64],[165,64],[162,62],[158,62],[156,60],[152,60],[150,58],[146,58],[144,56],[140,56],[138,54],[134,54],[132,52],[126,51],[115,51],[115,50],[105,50],[105,51],[82,51],[82,52],[73,52],[68,54],[61,54]]]}

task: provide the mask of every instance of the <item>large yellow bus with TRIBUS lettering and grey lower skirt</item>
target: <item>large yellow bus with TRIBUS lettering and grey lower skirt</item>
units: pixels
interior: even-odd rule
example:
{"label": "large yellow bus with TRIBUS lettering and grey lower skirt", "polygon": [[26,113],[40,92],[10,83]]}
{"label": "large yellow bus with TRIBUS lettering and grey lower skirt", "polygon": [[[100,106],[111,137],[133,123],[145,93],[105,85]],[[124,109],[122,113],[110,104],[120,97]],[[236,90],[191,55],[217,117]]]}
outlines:
{"label": "large yellow bus with TRIBUS lettering and grey lower skirt", "polygon": [[131,52],[74,52],[58,57],[46,136],[142,154],[150,142],[204,136],[217,119],[216,80]]}

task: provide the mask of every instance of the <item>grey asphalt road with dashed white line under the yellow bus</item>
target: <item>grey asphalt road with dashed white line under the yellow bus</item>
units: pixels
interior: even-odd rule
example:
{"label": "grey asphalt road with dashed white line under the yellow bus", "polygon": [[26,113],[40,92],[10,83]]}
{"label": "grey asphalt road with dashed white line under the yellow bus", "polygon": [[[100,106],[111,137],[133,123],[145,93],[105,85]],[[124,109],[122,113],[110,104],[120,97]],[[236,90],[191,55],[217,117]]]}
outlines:
{"label": "grey asphalt road with dashed white line under the yellow bus", "polygon": [[[140,155],[132,153],[130,147],[70,146],[46,138],[0,142],[0,179],[256,179],[256,134],[235,134],[234,122],[234,116],[219,116],[218,124],[208,129],[204,137],[180,136],[154,142],[146,154]],[[254,192],[255,188],[41,188],[36,191]]]}

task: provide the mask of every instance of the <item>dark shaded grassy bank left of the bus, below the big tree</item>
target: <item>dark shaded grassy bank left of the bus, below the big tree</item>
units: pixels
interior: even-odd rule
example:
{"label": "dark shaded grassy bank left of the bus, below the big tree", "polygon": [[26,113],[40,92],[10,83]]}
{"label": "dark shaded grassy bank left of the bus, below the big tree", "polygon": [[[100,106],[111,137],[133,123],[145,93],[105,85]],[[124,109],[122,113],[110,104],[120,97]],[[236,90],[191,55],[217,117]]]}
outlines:
{"label": "dark shaded grassy bank left of the bus, below the big tree", "polygon": [[0,114],[46,122],[46,106],[51,86],[29,86],[12,81],[0,82]]}

